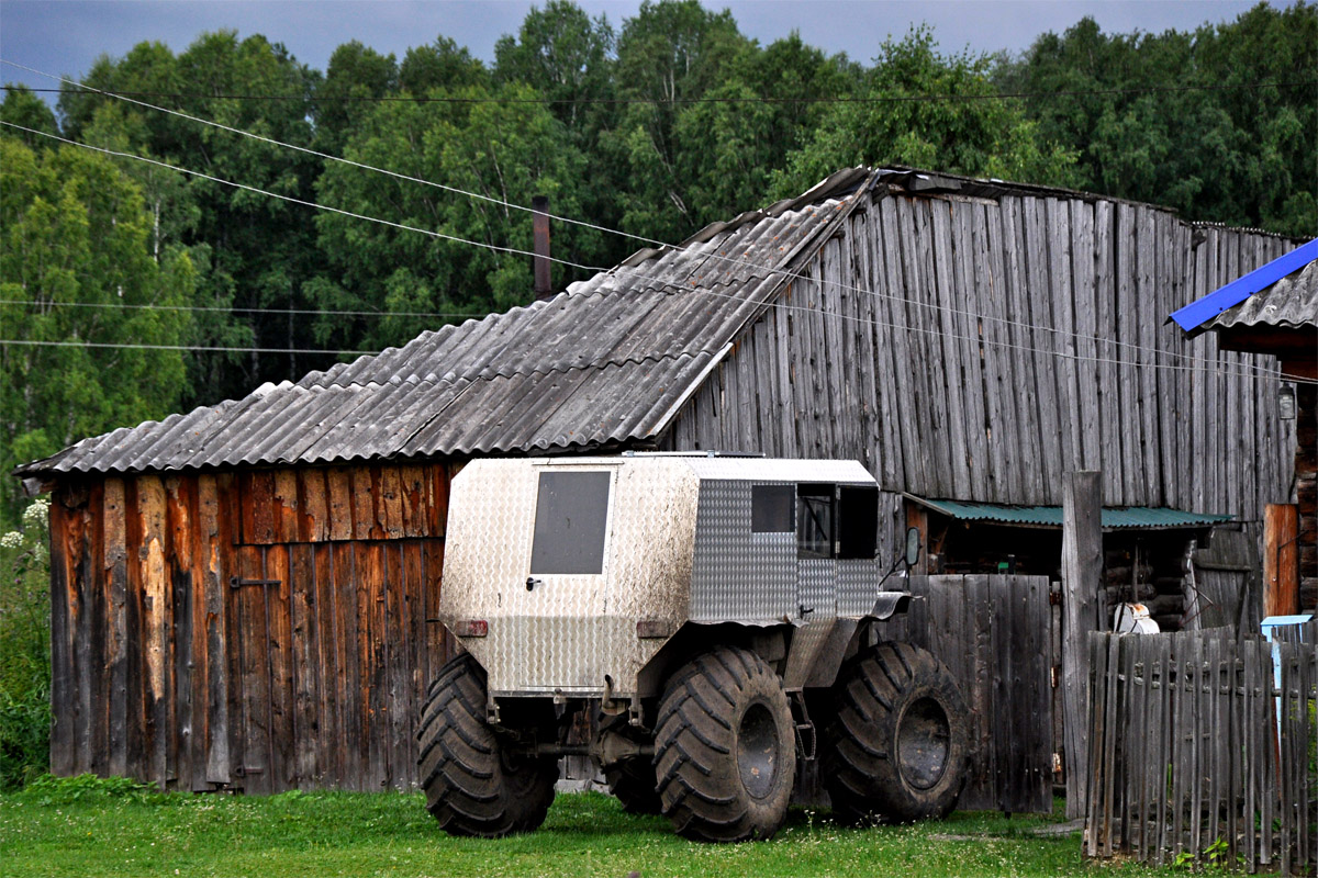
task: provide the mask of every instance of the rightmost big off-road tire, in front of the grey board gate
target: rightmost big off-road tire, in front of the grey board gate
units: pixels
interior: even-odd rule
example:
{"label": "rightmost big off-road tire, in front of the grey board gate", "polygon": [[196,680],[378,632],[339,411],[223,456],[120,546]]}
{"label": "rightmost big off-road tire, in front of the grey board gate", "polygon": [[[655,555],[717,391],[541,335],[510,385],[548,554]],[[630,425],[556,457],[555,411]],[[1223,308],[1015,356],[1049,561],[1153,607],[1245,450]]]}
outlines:
{"label": "rightmost big off-road tire, in front of the grey board gate", "polygon": [[838,671],[821,774],[844,823],[945,817],[966,782],[966,707],[948,669],[909,644]]}

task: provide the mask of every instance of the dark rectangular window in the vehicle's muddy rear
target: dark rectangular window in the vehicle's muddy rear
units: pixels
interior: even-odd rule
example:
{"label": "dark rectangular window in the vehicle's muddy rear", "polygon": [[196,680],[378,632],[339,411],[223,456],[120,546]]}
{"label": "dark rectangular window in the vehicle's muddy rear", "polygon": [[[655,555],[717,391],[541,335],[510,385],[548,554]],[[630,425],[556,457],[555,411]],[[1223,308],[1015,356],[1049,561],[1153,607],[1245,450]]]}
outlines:
{"label": "dark rectangular window in the vehicle's muddy rear", "polygon": [[540,473],[531,573],[604,573],[608,523],[608,473]]}

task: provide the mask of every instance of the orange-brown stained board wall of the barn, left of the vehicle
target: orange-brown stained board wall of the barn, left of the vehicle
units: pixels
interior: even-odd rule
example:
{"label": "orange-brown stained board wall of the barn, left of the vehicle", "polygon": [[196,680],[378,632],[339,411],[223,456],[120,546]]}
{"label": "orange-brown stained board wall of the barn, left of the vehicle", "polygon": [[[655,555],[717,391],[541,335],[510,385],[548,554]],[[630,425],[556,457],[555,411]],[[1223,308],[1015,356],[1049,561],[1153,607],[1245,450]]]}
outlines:
{"label": "orange-brown stained board wall of the barn, left of the vehicle", "polygon": [[427,621],[449,477],[411,465],[63,484],[51,769],[182,790],[410,787],[413,717],[451,652]]}

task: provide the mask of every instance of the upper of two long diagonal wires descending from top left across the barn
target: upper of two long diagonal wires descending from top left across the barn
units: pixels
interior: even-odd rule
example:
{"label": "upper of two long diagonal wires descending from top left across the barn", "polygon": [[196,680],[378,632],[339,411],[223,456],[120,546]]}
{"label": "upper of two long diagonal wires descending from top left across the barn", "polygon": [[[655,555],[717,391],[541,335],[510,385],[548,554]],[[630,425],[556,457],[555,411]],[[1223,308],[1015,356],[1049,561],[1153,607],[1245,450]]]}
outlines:
{"label": "upper of two long diagonal wires descending from top left across the barn", "polygon": [[[107,96],[111,96],[111,97],[116,97],[116,95],[112,93],[112,92],[105,92],[105,91],[94,88],[91,86],[87,86],[84,83],[79,83],[79,82],[69,79],[66,76],[58,76],[55,74],[47,74],[45,71],[36,70],[33,67],[26,67],[24,65],[18,65],[18,63],[12,62],[12,61],[0,59],[0,63],[7,63],[7,65],[9,65],[12,67],[18,67],[20,70],[26,70],[28,72],[36,74],[38,76],[46,76],[49,79],[54,79],[54,80],[58,80],[58,82],[62,82],[62,83],[67,83],[67,84],[71,84],[71,86],[76,86],[79,88],[87,88],[87,90],[90,90],[92,92],[96,92],[96,93],[103,93],[103,95],[107,95]],[[219,128],[221,130],[227,130],[229,133],[239,134],[241,137],[249,137],[249,138],[265,142],[265,143],[270,143],[273,146],[283,146],[286,149],[297,150],[297,151],[301,151],[301,153],[307,153],[307,154],[323,158],[323,159],[328,159],[328,161],[333,161],[333,162],[341,162],[344,165],[349,165],[349,166],[356,167],[358,170],[373,171],[376,174],[385,174],[385,175],[395,178],[395,179],[407,180],[407,182],[411,182],[411,183],[419,183],[419,184],[423,184],[423,186],[431,186],[431,187],[443,190],[445,192],[451,192],[451,194],[455,194],[455,195],[461,195],[464,197],[471,197],[471,199],[477,199],[477,200],[493,203],[493,204],[497,204],[500,207],[510,208],[510,209],[514,209],[514,211],[523,211],[523,212],[527,212],[527,213],[538,213],[538,211],[535,211],[534,208],[529,208],[529,207],[525,207],[525,205],[521,205],[521,204],[514,204],[514,203],[506,201],[503,199],[492,197],[492,196],[482,195],[482,194],[478,194],[478,192],[469,192],[469,191],[459,188],[459,187],[445,186],[443,183],[435,183],[432,180],[426,180],[423,178],[416,178],[416,176],[409,176],[409,175],[405,175],[405,174],[398,174],[397,171],[390,171],[390,170],[381,168],[381,167],[374,167],[372,165],[364,165],[361,162],[355,162],[355,161],[345,159],[345,158],[341,158],[341,157],[337,157],[337,155],[331,155],[328,153],[320,153],[318,150],[312,150],[312,149],[308,149],[308,147],[304,147],[304,146],[298,146],[295,143],[286,143],[283,141],[274,140],[272,137],[265,137],[265,136],[261,136],[261,134],[254,134],[252,132],[246,132],[246,130],[243,130],[240,128],[232,128],[229,125],[223,125],[223,124],[216,122],[214,120],[207,120],[207,118],[202,118],[202,117],[198,117],[198,116],[191,116],[188,113],[183,113],[183,112],[175,111],[175,109],[169,109],[166,107],[157,107],[156,104],[148,104],[145,101],[134,100],[134,99],[130,99],[130,97],[120,97],[120,100],[125,100],[128,103],[137,104],[140,107],[145,107],[148,109],[154,109],[154,111],[158,111],[158,112],[162,112],[162,113],[169,113],[171,116],[178,116],[181,118],[186,118],[188,121],[194,121],[194,122],[198,122],[198,124],[202,124],[202,125],[210,125],[212,128]],[[34,133],[40,133],[40,132],[34,132]],[[275,197],[285,197],[285,196],[278,196],[277,195]],[[327,208],[327,209],[335,209],[335,208]],[[608,226],[596,225],[593,222],[587,222],[584,220],[576,220],[576,219],[567,217],[567,216],[558,216],[558,215],[554,215],[554,213],[546,213],[544,216],[548,216],[550,219],[558,220],[560,222],[567,222],[567,224],[572,224],[572,225],[579,225],[579,226],[589,228],[589,229],[593,229],[596,232],[604,232],[606,234],[622,236],[622,237],[633,240],[633,241],[641,241],[642,244],[656,246],[662,251],[684,253],[684,251],[689,250],[689,247],[672,246],[672,245],[668,245],[668,244],[666,244],[663,241],[658,241],[655,238],[647,238],[647,237],[643,237],[643,236],[631,234],[631,233],[627,233],[627,232],[622,232],[619,229],[610,229]],[[384,220],[381,220],[381,221],[384,221]],[[525,251],[519,251],[519,253],[525,254]],[[776,274],[779,276],[783,276],[787,280],[805,279],[805,275],[803,275],[800,272],[788,271],[786,269],[776,269],[776,267],[768,267],[768,269],[766,269],[764,266],[760,266],[760,265],[757,265],[757,263],[751,263],[751,262],[746,262],[746,261],[742,261],[742,259],[737,259],[734,257],[725,257],[725,255],[716,254],[716,253],[708,253],[705,255],[706,255],[708,259],[716,259],[716,261],[730,263],[730,265],[735,265],[735,266],[753,267],[753,269],[757,269],[757,270],[767,270],[767,271],[771,271],[771,272],[774,272],[774,274]],[[589,271],[605,271],[606,270],[606,269],[598,269],[598,267],[580,266],[580,265],[576,265],[576,263],[564,262],[561,259],[555,259],[555,261],[556,262],[561,262],[563,265],[571,265],[573,267],[581,267],[581,269],[585,269],[585,270],[589,270]],[[1180,351],[1168,351],[1168,350],[1160,350],[1160,349],[1156,349],[1156,348],[1144,348],[1143,345],[1139,345],[1136,342],[1120,341],[1120,340],[1115,340],[1115,338],[1102,338],[1099,336],[1085,336],[1085,334],[1078,333],[1078,332],[1058,329],[1058,328],[1054,328],[1054,326],[1040,326],[1037,324],[1031,324],[1031,323],[1020,321],[1020,320],[1012,320],[1012,319],[1008,319],[1008,317],[994,317],[994,316],[983,315],[983,313],[974,312],[974,311],[970,311],[970,309],[966,309],[966,308],[956,308],[953,305],[942,305],[942,304],[938,304],[938,303],[911,301],[911,300],[908,300],[908,299],[905,299],[903,296],[895,295],[895,294],[875,292],[875,291],[871,291],[871,290],[867,290],[867,288],[863,288],[863,287],[859,287],[859,286],[854,286],[854,284],[847,284],[847,283],[840,282],[840,280],[820,280],[820,283],[828,283],[828,284],[830,284],[830,286],[833,286],[833,287],[836,287],[838,290],[846,290],[846,291],[857,292],[857,294],[861,294],[861,295],[869,295],[869,296],[874,296],[874,297],[879,297],[879,299],[890,299],[892,301],[899,301],[899,303],[902,303],[904,305],[915,305],[915,307],[919,307],[919,308],[928,308],[931,311],[940,311],[940,312],[950,313],[950,315],[954,315],[954,316],[963,316],[963,317],[967,317],[967,319],[971,319],[971,320],[977,320],[977,321],[992,321],[992,323],[999,323],[999,324],[1006,325],[1006,326],[1017,326],[1017,328],[1021,328],[1021,329],[1028,329],[1031,332],[1050,332],[1050,333],[1054,333],[1056,336],[1060,336],[1062,338],[1073,338],[1075,341],[1083,341],[1086,344],[1089,341],[1094,341],[1097,344],[1112,345],[1112,346],[1116,346],[1116,348],[1122,348],[1122,349],[1127,349],[1127,350],[1135,350],[1135,351],[1143,351],[1143,353],[1149,353],[1149,354],[1153,354],[1153,355],[1165,355],[1165,357],[1174,357],[1174,358],[1178,358],[1178,359],[1188,359],[1191,363],[1193,362],[1198,362],[1199,359],[1202,359],[1202,358],[1197,357],[1195,354],[1185,354],[1185,353],[1180,353]],[[1255,369],[1260,369],[1260,367],[1255,367]]]}

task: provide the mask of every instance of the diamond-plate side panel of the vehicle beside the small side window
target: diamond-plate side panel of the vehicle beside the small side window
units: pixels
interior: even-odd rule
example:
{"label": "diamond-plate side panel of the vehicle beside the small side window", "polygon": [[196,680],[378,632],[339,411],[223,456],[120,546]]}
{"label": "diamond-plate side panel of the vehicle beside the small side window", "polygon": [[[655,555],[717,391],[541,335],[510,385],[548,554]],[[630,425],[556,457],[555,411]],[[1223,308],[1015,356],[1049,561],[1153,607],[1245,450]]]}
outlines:
{"label": "diamond-plate side panel of the vehicle beside the small side window", "polygon": [[[691,465],[717,458],[668,459]],[[735,461],[750,462],[760,461]],[[734,473],[735,466],[714,471]],[[692,621],[796,617],[796,534],[751,533],[751,486],[766,483],[774,482],[701,480],[691,578]]]}

